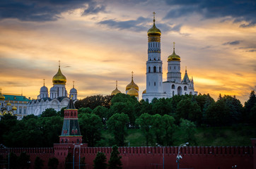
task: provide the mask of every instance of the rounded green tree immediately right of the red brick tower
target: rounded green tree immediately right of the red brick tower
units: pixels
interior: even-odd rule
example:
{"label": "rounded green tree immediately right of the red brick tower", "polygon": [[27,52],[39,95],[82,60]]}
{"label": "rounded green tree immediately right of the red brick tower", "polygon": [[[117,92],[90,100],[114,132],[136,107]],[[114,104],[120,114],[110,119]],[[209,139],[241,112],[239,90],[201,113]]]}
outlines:
{"label": "rounded green tree immediately right of the red brick tower", "polygon": [[78,115],[81,134],[88,146],[95,146],[101,138],[103,123],[98,115],[83,113]]}

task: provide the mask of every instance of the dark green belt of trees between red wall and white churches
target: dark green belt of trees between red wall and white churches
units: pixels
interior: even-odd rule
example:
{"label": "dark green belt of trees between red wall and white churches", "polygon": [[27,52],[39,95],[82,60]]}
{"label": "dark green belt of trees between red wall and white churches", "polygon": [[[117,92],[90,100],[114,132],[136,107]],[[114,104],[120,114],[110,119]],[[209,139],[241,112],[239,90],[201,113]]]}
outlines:
{"label": "dark green belt of trees between red wall and white churches", "polygon": [[[151,103],[137,101],[127,94],[88,96],[76,101],[83,140],[88,146],[127,145],[127,129],[139,128],[146,146],[173,145],[174,135],[185,132],[182,142],[194,142],[198,126],[229,126],[238,123],[256,124],[255,91],[243,106],[235,96],[219,96],[214,101],[209,94],[173,96],[153,99]],[[0,143],[5,146],[39,147],[59,142],[64,108],[56,112],[48,108],[40,116],[28,115],[23,120],[3,115],[0,120]],[[103,138],[112,134],[113,138]],[[15,138],[15,139],[13,139]],[[186,141],[185,141],[186,140]]]}

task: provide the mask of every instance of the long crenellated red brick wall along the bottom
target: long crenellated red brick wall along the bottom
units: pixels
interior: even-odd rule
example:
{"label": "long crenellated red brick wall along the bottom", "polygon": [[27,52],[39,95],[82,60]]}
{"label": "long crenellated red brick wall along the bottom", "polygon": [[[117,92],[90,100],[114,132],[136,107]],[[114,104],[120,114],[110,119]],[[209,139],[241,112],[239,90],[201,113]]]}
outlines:
{"label": "long crenellated red brick wall along the bottom", "polygon": [[[87,169],[93,168],[93,160],[98,151],[110,158],[111,147],[87,147],[81,146],[81,158],[86,158]],[[26,151],[30,155],[31,168],[33,168],[36,156],[45,161],[47,168],[48,158],[59,159],[59,168],[64,168],[67,154],[73,154],[73,144],[54,144],[54,148],[13,148],[10,149],[17,155]],[[123,168],[144,169],[163,168],[163,149],[161,147],[120,147]],[[78,162],[78,148],[75,151],[75,161]],[[194,169],[226,169],[237,165],[238,168],[252,169],[254,167],[254,152],[252,146],[187,146],[181,149],[181,168]],[[0,154],[6,155],[6,149],[0,149]],[[177,146],[165,147],[165,168],[177,168]]]}

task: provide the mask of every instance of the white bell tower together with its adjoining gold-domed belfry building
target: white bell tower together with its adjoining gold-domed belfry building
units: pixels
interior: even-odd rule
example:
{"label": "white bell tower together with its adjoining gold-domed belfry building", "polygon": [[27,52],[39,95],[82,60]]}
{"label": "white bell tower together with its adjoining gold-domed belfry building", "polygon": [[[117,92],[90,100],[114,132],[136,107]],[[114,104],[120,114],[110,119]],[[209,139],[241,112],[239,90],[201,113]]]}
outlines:
{"label": "white bell tower together with its adjoining gold-domed belfry building", "polygon": [[[155,14],[155,13],[154,13]],[[146,61],[146,89],[142,92],[142,99],[151,102],[154,98],[170,98],[174,95],[192,94],[194,80],[187,75],[187,68],[183,79],[180,73],[180,56],[173,54],[168,56],[167,81],[163,82],[163,61],[161,60],[161,30],[156,27],[155,16],[153,27],[148,31],[148,61]]]}

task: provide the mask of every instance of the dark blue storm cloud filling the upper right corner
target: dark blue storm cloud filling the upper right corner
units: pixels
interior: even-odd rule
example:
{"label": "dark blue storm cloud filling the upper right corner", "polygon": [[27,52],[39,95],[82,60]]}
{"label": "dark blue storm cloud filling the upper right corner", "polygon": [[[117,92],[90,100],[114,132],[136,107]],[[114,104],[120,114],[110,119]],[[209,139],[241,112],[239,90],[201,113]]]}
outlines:
{"label": "dark blue storm cloud filling the upper right corner", "polygon": [[252,27],[256,24],[256,1],[253,0],[165,0],[170,6],[177,6],[169,11],[165,18],[178,18],[192,13],[199,13],[204,18],[231,16],[234,23],[246,21],[240,27]]}

